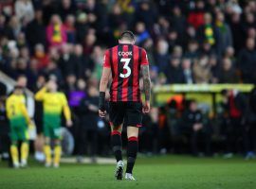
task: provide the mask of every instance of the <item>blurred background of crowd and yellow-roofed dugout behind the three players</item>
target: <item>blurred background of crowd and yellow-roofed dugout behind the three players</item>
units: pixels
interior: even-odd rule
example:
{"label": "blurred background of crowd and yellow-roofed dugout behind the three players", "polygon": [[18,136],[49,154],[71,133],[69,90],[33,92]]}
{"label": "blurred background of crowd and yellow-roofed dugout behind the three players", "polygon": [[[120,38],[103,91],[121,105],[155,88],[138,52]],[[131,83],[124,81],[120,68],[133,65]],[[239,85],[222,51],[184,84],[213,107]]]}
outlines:
{"label": "blurred background of crowd and yellow-roofed dugout behind the three players", "polygon": [[255,1],[1,0],[2,158],[9,151],[5,99],[18,83],[27,87],[27,109],[37,129],[31,151],[44,161],[43,108],[33,94],[49,78],[58,81],[72,110],[65,154],[78,162],[84,155],[96,161],[112,154],[108,121],[98,117],[95,105],[104,50],[126,29],[146,49],[153,82],[152,112],[140,129],[141,154],[254,158]]}

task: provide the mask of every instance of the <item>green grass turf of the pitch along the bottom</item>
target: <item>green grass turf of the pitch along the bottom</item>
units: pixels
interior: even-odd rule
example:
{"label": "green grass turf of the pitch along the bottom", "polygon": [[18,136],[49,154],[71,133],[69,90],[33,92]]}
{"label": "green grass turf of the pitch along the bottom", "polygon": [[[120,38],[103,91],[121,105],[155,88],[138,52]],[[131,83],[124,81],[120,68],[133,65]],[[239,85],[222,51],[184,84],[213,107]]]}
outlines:
{"label": "green grass turf of the pitch along the bottom", "polygon": [[0,188],[254,189],[256,161],[241,158],[163,156],[138,158],[137,181],[115,180],[113,165],[63,163],[59,169],[30,163],[9,169],[0,163]]}

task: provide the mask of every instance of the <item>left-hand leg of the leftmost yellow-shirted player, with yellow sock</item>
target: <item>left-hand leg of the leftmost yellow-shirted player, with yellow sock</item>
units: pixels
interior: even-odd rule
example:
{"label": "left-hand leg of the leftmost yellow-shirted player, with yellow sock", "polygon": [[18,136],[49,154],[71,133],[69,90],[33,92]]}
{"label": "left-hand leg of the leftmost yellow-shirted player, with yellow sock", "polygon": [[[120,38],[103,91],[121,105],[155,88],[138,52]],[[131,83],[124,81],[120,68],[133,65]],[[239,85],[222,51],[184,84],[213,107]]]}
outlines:
{"label": "left-hand leg of the leftmost yellow-shirted player, with yellow sock", "polygon": [[18,134],[13,126],[10,126],[10,156],[12,160],[12,164],[14,168],[18,168],[20,166],[19,163],[19,150],[18,150]]}

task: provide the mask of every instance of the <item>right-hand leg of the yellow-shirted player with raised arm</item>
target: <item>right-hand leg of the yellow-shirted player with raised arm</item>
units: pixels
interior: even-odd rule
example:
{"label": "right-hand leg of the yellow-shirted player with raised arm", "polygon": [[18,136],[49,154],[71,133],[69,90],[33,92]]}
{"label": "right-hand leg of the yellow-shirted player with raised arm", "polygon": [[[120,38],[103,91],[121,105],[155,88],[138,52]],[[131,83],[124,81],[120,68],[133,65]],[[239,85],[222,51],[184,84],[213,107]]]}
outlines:
{"label": "right-hand leg of the yellow-shirted player with raised arm", "polygon": [[54,135],[54,159],[53,166],[58,168],[60,166],[61,156],[62,156],[62,144],[61,144],[61,126],[55,127],[53,129]]}

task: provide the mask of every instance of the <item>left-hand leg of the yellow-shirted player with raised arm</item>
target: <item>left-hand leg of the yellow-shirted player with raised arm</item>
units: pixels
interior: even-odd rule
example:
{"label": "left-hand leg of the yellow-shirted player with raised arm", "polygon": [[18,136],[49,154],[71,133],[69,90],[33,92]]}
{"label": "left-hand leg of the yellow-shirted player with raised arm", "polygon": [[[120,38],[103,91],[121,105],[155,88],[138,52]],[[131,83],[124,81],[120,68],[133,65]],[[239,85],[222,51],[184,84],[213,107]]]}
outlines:
{"label": "left-hand leg of the yellow-shirted player with raised arm", "polygon": [[50,128],[45,125],[44,126],[44,136],[45,136],[45,146],[44,146],[44,152],[46,156],[46,167],[49,167],[51,165],[51,148],[50,148]]}

